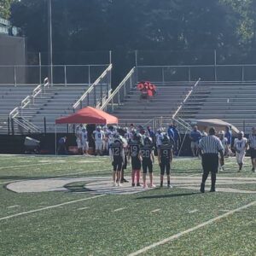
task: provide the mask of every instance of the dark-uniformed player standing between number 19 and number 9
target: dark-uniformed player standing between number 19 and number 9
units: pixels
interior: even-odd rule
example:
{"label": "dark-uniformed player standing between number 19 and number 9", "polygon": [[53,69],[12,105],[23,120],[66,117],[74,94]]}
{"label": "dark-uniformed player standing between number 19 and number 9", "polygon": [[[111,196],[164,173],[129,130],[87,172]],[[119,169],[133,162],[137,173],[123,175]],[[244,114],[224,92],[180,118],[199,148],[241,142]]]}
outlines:
{"label": "dark-uniformed player standing between number 19 and number 9", "polygon": [[143,147],[140,152],[143,159],[143,188],[148,188],[146,183],[147,172],[149,172],[150,188],[155,188],[153,183],[154,148],[151,137],[144,138]]}

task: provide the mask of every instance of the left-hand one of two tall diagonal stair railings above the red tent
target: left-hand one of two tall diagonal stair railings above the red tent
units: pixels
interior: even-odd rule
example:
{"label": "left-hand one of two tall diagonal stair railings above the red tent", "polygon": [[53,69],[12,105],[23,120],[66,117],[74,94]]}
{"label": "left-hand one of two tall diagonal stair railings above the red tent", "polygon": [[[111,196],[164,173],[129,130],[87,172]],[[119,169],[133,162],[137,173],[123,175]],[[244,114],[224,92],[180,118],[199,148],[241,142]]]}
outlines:
{"label": "left-hand one of two tall diagonal stair railings above the red tent", "polygon": [[[106,70],[100,75],[96,81],[84,92],[77,102],[73,104],[73,110],[83,108],[85,106],[96,107],[99,103],[102,104],[104,96],[108,97],[109,90],[111,89],[111,70],[110,64]],[[100,99],[100,102],[98,102]]]}

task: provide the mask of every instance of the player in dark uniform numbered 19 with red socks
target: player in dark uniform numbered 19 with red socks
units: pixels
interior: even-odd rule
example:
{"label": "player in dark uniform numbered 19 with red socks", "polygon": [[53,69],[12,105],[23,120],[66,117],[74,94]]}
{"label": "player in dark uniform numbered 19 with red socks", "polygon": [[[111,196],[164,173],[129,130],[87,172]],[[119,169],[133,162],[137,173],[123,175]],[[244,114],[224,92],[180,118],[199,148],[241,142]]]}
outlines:
{"label": "player in dark uniform numbered 19 with red socks", "polygon": [[129,152],[128,152],[128,161],[131,158],[131,186],[135,186],[135,175],[137,176],[137,187],[140,187],[140,174],[142,167],[142,159],[140,155],[140,146],[141,146],[141,135],[135,133],[132,139],[128,143]]}

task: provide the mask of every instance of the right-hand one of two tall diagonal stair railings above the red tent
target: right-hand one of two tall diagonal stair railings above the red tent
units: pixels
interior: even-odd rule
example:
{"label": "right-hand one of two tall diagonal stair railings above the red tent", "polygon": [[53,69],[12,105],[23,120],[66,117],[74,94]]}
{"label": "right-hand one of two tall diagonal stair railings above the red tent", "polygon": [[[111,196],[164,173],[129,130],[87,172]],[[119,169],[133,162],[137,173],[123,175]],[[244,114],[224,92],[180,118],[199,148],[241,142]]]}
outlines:
{"label": "right-hand one of two tall diagonal stair railings above the red tent", "polygon": [[125,96],[131,91],[136,82],[136,67],[133,67],[100,108],[102,110],[108,110],[110,105],[110,111],[113,112],[114,107],[124,102]]}

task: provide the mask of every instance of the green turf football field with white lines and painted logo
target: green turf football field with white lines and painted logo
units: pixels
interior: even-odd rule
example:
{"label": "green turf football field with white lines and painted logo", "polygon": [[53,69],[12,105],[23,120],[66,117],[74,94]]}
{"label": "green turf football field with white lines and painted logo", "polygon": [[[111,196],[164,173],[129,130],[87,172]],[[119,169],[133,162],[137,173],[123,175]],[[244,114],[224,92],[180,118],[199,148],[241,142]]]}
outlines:
{"label": "green turf football field with white lines and painted logo", "polygon": [[[0,255],[256,255],[256,174],[225,160],[199,193],[201,160],[177,158],[172,189],[111,186],[110,160],[0,156]],[[129,180],[131,166],[125,173]]]}

